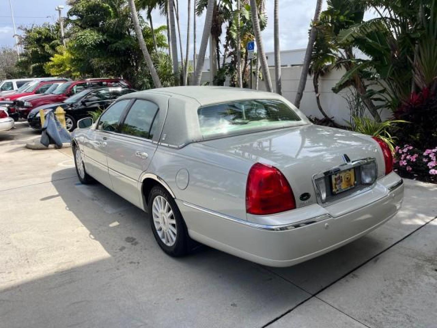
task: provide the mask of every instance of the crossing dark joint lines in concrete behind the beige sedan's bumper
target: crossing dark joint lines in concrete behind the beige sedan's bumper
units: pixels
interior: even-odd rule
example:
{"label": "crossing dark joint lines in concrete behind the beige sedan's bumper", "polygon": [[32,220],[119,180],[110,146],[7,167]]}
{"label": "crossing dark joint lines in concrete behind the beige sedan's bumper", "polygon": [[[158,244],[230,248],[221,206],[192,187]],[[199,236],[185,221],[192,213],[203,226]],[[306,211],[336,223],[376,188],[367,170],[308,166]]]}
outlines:
{"label": "crossing dark joint lines in concrete behind the beige sedan's bumper", "polygon": [[325,287],[323,287],[321,290],[317,291],[316,293],[312,294],[309,293],[308,290],[305,290],[304,288],[302,288],[301,286],[296,285],[295,283],[293,283],[291,280],[281,276],[280,274],[272,271],[271,269],[267,268],[267,267],[263,267],[265,270],[267,270],[268,272],[271,272],[272,274],[274,274],[275,276],[278,276],[281,279],[284,279],[285,281],[287,281],[288,283],[291,283],[293,286],[298,287],[299,289],[303,290],[306,293],[309,293],[311,296],[307,297],[305,300],[302,300],[302,302],[296,304],[294,307],[291,307],[291,309],[285,311],[283,314],[280,314],[279,316],[277,316],[276,318],[272,319],[271,321],[267,322],[267,324],[263,325],[262,328],[268,327],[271,324],[273,324],[274,322],[278,321],[279,319],[283,318],[284,316],[286,316],[287,314],[291,313],[293,310],[295,310],[297,307],[301,306],[302,304],[306,303],[307,301],[311,300],[313,297],[317,298],[318,300],[321,300],[323,303],[329,305],[330,307],[333,307],[334,309],[336,309],[337,311],[347,315],[349,318],[353,319],[354,321],[359,322],[361,325],[364,325],[365,327],[370,328],[368,325],[365,325],[364,323],[362,323],[361,321],[357,320],[354,317],[351,317],[349,314],[341,311],[340,309],[337,309],[335,306],[333,306],[332,304],[329,304],[328,302],[322,300],[320,297],[318,297],[318,295],[320,293],[322,293],[324,290],[326,290],[327,288],[329,288],[330,286],[334,285],[335,283],[339,282],[341,279],[345,278],[346,276],[349,276],[352,272],[360,269],[362,266],[366,265],[367,263],[371,262],[373,259],[377,258],[379,255],[385,253],[386,251],[388,251],[389,249],[393,248],[394,246],[396,246],[397,244],[399,244],[400,242],[406,240],[406,238],[408,238],[409,236],[411,236],[412,234],[416,233],[417,231],[419,231],[420,229],[422,229],[423,227],[426,227],[429,223],[433,222],[434,220],[437,219],[437,216],[434,216],[433,219],[429,220],[427,223],[421,225],[420,227],[416,228],[415,230],[413,230],[412,232],[410,232],[409,234],[406,234],[404,237],[402,237],[401,239],[399,239],[398,241],[396,241],[395,243],[393,243],[392,245],[388,246],[387,248],[384,248],[382,251],[378,252],[377,254],[373,255],[371,258],[369,258],[368,260],[364,261],[363,263],[361,263],[360,265],[357,265],[354,269],[351,269],[350,271],[348,271],[347,273],[345,273],[343,276],[340,276],[340,278],[337,278],[336,280],[334,280],[332,283],[329,283],[328,285],[326,285]]}

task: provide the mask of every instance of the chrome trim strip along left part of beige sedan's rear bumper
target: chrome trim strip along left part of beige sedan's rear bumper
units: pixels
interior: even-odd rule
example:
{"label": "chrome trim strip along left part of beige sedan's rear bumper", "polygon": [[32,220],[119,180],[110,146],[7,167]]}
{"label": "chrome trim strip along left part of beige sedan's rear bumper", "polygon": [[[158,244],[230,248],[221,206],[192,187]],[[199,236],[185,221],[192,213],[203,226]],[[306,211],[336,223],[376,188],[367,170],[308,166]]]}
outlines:
{"label": "chrome trim strip along left part of beige sedan's rear bumper", "polygon": [[182,202],[182,203],[185,206],[191,207],[192,209],[197,209],[198,211],[202,211],[202,212],[220,217],[220,218],[225,219],[225,220],[229,220],[229,221],[232,221],[235,223],[243,224],[243,225],[251,227],[251,228],[260,229],[260,230],[268,230],[268,231],[286,231],[286,230],[297,229],[297,228],[308,226],[308,225],[313,224],[313,223],[317,223],[317,222],[321,222],[321,221],[330,219],[332,217],[329,214],[323,214],[323,215],[319,215],[316,217],[312,217],[312,218],[307,219],[307,220],[298,221],[295,223],[281,224],[281,225],[267,225],[267,224],[259,224],[259,223],[253,223],[253,222],[246,221],[246,220],[241,220],[241,219],[238,219],[238,218],[233,217],[233,216],[229,216],[229,215],[225,215],[222,213],[212,211],[211,209],[205,209],[204,207],[197,206],[197,205],[191,204],[189,202]]}

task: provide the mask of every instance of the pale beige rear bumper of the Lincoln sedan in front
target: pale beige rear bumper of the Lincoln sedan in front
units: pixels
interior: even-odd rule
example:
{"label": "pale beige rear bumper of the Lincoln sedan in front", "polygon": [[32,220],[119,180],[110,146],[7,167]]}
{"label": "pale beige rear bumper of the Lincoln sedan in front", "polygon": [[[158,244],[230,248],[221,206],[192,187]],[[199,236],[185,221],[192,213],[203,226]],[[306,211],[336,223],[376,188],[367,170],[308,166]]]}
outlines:
{"label": "pale beige rear bumper of the Lincoln sedan in front", "polygon": [[[271,225],[230,218],[180,200],[177,204],[194,240],[262,265],[285,267],[332,251],[376,229],[398,212],[403,193],[402,179],[392,173],[356,199],[292,210],[285,213],[288,223],[277,224],[273,216]],[[351,204],[354,209],[347,211]]]}

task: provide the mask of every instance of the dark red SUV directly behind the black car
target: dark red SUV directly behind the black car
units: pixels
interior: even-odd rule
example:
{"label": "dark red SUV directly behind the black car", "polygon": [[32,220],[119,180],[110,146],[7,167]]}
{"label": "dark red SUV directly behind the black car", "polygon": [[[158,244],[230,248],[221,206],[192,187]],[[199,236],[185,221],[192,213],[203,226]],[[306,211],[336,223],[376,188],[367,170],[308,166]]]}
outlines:
{"label": "dark red SUV directly behind the black car", "polygon": [[97,78],[71,81],[61,84],[51,94],[35,95],[35,97],[26,97],[24,100],[17,99],[14,107],[18,109],[21,117],[27,118],[30,111],[38,106],[62,102],[73,94],[90,87],[130,87],[130,84],[120,78]]}

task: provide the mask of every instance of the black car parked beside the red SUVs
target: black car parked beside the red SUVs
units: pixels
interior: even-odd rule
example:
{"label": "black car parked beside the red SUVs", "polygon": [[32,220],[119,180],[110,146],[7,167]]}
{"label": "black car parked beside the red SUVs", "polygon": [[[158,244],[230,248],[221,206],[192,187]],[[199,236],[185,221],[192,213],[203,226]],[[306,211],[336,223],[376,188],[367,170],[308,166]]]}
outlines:
{"label": "black car parked beside the red SUVs", "polygon": [[68,131],[76,129],[77,121],[84,117],[90,117],[90,112],[103,111],[112,102],[123,94],[129,94],[136,90],[122,87],[98,87],[85,89],[67,98],[61,103],[42,105],[31,110],[28,115],[29,125],[37,130],[41,130],[41,119],[39,111],[44,110],[44,114],[62,107],[65,111],[65,122]]}

